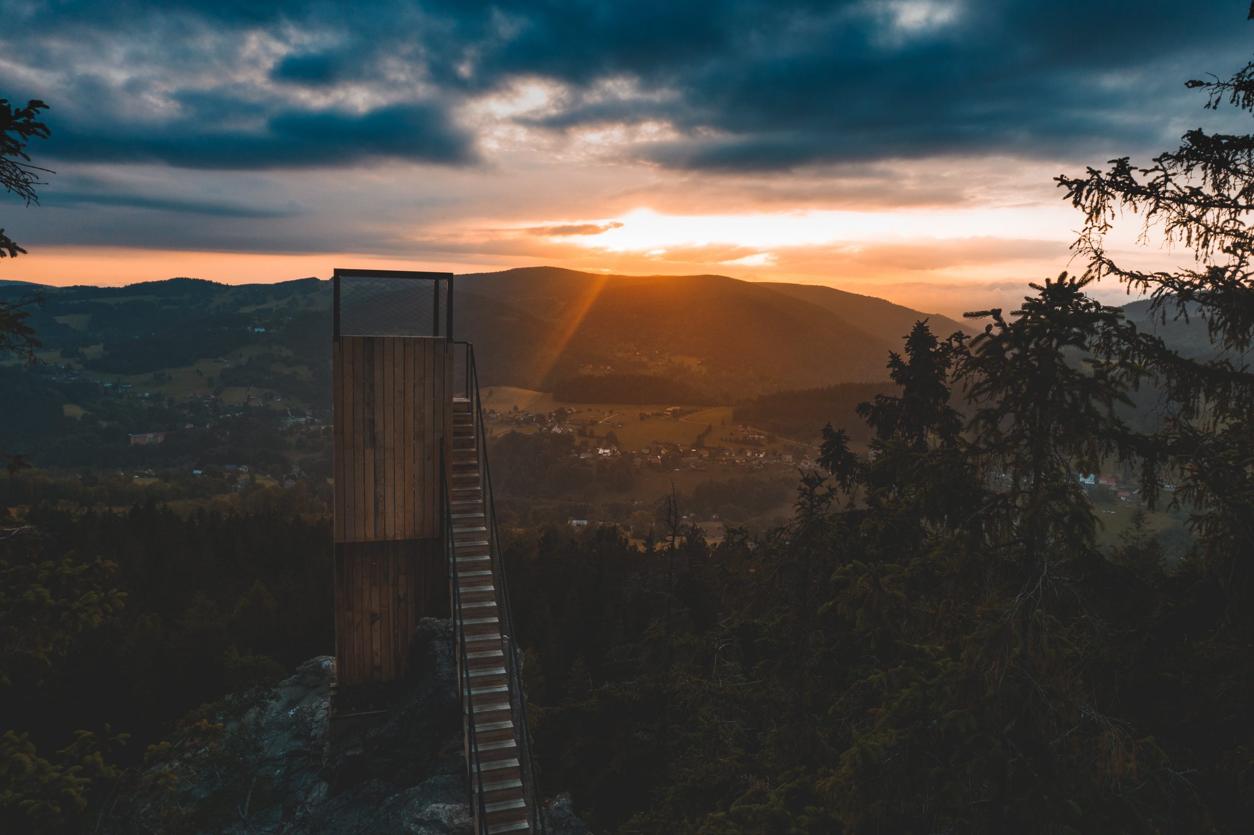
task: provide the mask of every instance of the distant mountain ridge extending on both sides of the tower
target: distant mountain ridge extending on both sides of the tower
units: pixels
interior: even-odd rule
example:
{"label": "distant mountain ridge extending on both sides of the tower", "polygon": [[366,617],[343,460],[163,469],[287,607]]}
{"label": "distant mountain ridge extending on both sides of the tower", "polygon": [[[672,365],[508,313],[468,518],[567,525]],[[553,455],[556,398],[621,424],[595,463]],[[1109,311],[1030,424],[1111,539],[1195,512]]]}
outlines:
{"label": "distant mountain ridge extending on both sides of the tower", "polygon": [[[3,286],[0,298],[29,290]],[[330,350],[330,285],[315,278],[43,290],[33,325],[45,346],[84,352],[104,374],[155,371],[256,341],[305,357]],[[870,296],[726,276],[532,267],[458,276],[454,292],[454,330],[475,344],[483,381],[544,391],[578,376],[643,374],[734,402],[779,389],[874,382],[917,320],[929,318],[939,333],[961,327]],[[265,336],[250,335],[251,326],[265,327]]]}

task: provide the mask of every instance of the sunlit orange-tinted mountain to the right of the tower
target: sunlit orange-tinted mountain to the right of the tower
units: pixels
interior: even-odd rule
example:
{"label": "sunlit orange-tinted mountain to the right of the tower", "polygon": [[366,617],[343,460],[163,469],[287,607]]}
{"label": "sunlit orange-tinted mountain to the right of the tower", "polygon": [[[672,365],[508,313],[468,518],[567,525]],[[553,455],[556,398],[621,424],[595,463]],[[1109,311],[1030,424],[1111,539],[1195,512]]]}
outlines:
{"label": "sunlit orange-tinted mountain to the right of the tower", "polygon": [[[877,381],[885,377],[888,352],[928,318],[829,287],[726,276],[527,267],[454,281],[458,293],[498,300],[548,325],[518,367],[519,385],[545,390],[589,370],[676,375],[724,402],[781,387]],[[930,318],[940,332],[961,328]],[[495,365],[492,354],[483,356]]]}

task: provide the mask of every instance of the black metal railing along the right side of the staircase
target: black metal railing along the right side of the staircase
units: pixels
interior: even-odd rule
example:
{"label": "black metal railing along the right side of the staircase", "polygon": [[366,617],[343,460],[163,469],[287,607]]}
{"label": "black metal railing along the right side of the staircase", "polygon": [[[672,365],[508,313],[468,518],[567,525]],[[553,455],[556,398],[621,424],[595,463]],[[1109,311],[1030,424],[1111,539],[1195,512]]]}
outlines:
{"label": "black metal railing along the right side of the staircase", "polygon": [[[510,718],[514,723],[515,741],[520,748],[518,757],[522,772],[523,796],[527,800],[527,816],[532,831],[544,832],[544,819],[540,812],[539,780],[535,770],[535,757],[532,752],[532,731],[527,718],[527,692],[522,678],[522,647],[517,641],[514,613],[509,601],[509,582],[505,574],[505,562],[500,553],[500,530],[497,524],[497,503],[492,486],[492,466],[488,463],[488,433],[485,414],[479,390],[479,371],[475,366],[474,345],[466,341],[453,341],[454,345],[454,394],[460,390],[469,401],[470,415],[475,428],[475,448],[479,460],[479,483],[483,488],[484,518],[488,529],[488,555],[497,579],[497,609],[499,613],[500,637],[505,659],[505,677],[509,682]],[[458,380],[460,377],[460,386]],[[449,518],[451,528],[451,517]]]}

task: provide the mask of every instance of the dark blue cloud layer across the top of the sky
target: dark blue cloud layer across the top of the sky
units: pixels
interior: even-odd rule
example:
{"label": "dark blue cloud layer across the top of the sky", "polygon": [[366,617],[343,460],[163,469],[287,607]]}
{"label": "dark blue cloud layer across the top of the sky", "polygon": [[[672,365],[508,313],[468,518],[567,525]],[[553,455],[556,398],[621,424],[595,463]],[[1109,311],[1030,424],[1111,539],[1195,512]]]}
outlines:
{"label": "dark blue cloud layer across the top of the sky", "polygon": [[23,68],[0,70],[0,89],[53,102],[60,157],[192,168],[470,163],[461,105],[533,78],[562,94],[520,123],[665,123],[672,138],[624,153],[673,168],[1088,157],[1160,144],[1184,79],[1245,60],[1241,11],[1179,0],[0,0],[0,48]]}

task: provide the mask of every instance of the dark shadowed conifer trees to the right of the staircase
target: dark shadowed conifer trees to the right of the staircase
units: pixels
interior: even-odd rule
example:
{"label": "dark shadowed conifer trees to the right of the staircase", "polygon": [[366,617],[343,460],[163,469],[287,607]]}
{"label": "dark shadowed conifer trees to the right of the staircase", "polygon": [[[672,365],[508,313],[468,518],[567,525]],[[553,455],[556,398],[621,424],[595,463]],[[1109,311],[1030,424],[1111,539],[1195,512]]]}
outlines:
{"label": "dark shadowed conifer trees to the right of the staircase", "polygon": [[1075,360],[1132,335],[1087,283],[917,326],[872,454],[829,430],[765,540],[515,543],[545,785],[622,832],[1241,831],[1240,592],[1107,559],[1076,479],[1161,443],[1116,415],[1136,369]]}

